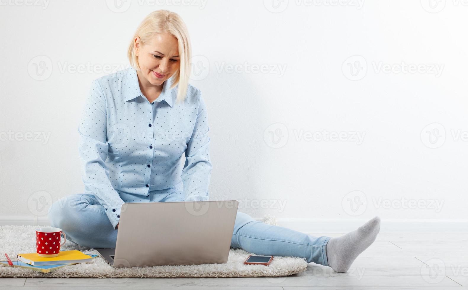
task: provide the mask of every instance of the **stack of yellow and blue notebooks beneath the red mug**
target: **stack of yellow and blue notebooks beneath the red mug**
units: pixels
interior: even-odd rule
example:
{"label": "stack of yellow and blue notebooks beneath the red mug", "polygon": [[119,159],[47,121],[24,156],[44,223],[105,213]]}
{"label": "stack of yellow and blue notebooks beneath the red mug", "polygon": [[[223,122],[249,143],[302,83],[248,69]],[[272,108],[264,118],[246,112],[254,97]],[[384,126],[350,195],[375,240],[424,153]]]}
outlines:
{"label": "stack of yellow and blue notebooks beneath the red mug", "polygon": [[[36,253],[18,254],[19,261],[12,261],[13,267],[29,268],[36,271],[49,273],[55,269],[77,263],[86,263],[98,255],[87,255],[80,251],[61,251],[57,257],[43,258]],[[7,265],[7,261],[0,261],[0,265]]]}

